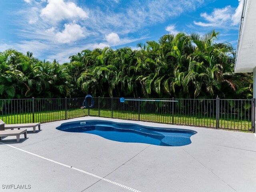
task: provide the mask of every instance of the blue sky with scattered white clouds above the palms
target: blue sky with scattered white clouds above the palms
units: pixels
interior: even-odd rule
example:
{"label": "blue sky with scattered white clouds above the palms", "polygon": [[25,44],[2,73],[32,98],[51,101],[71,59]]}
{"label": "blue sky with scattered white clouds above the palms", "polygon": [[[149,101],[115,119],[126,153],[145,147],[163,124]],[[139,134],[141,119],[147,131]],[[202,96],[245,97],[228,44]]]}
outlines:
{"label": "blue sky with scattered white clouds above the palms", "polygon": [[237,46],[243,0],[0,0],[0,52],[14,48],[68,62],[84,49],[113,49],[167,33],[215,29]]}

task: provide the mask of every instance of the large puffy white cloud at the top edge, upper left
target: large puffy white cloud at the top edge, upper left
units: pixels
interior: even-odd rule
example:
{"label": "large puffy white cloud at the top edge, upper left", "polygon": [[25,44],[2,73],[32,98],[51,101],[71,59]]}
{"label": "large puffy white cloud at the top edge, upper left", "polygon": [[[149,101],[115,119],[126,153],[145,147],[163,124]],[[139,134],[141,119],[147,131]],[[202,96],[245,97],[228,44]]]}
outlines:
{"label": "large puffy white cloud at the top edge, upper left", "polygon": [[41,10],[40,16],[48,21],[58,22],[64,19],[84,19],[88,17],[88,14],[73,2],[48,0],[46,7]]}

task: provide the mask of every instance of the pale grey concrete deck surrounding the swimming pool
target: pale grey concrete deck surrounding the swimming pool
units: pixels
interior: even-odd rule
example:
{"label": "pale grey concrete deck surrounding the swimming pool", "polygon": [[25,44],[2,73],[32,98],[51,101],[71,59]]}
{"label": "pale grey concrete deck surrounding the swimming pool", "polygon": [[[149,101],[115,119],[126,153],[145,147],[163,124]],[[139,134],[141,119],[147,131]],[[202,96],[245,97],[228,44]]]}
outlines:
{"label": "pale grey concrete deck surrounding the swimming pool", "polygon": [[[169,147],[56,130],[64,122],[92,119],[198,133],[189,145]],[[28,129],[27,137],[21,136],[20,143],[10,136],[0,140],[0,191],[256,191],[253,133],[84,117],[41,124],[34,134]],[[12,189],[5,189],[10,184]],[[18,185],[30,185],[30,189],[14,190]]]}

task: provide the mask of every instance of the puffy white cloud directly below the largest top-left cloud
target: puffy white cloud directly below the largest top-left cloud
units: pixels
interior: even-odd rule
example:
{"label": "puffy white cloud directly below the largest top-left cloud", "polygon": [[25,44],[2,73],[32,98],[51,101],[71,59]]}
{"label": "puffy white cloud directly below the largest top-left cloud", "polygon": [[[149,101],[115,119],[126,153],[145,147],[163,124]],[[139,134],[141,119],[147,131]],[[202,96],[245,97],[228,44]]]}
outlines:
{"label": "puffy white cloud directly below the largest top-left cloud", "polygon": [[[62,32],[57,32],[55,37],[59,43],[70,43],[85,37],[84,28],[76,23],[65,24]],[[50,31],[53,31],[51,28]]]}

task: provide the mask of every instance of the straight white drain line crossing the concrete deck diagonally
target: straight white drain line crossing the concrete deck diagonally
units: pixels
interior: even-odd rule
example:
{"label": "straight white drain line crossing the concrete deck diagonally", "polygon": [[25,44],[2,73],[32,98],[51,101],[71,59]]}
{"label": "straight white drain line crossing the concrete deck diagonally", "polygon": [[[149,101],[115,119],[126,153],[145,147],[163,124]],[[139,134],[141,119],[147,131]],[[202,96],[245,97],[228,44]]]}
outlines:
{"label": "straight white drain line crossing the concrete deck diagonally", "polygon": [[45,158],[45,157],[43,157],[43,156],[40,156],[40,155],[37,155],[37,154],[31,153],[31,152],[25,151],[25,150],[23,150],[23,149],[20,149],[20,148],[14,147],[14,146],[12,146],[12,145],[5,144],[5,143],[2,143],[2,142],[0,142],[0,144],[7,145],[7,146],[12,147],[12,148],[14,148],[14,149],[17,149],[17,150],[23,151],[23,152],[25,152],[25,153],[28,153],[28,154],[30,154],[30,155],[34,155],[34,156],[36,156],[36,157],[42,158],[42,159],[44,159],[44,160],[47,160],[47,161],[50,161],[50,162],[53,162],[53,163],[56,163],[56,164],[62,165],[62,166],[64,166],[64,167],[67,167],[67,168],[70,168],[70,169],[73,169],[73,170],[77,170],[77,171],[82,172],[82,173],[85,173],[85,174],[87,174],[87,175],[90,175],[90,176],[96,177],[96,178],[98,178],[98,179],[100,179],[100,180],[104,180],[104,181],[106,181],[106,182],[109,182],[109,183],[115,184],[115,185],[120,186],[120,187],[122,187],[122,188],[126,188],[126,189],[128,189],[128,190],[133,191],[133,192],[141,192],[141,191],[136,190],[136,189],[133,189],[133,188],[131,188],[131,187],[128,187],[128,186],[122,185],[122,184],[120,184],[120,183],[117,183],[117,182],[114,182],[114,181],[108,180],[108,179],[106,179],[106,178],[104,178],[104,177],[100,177],[100,176],[98,176],[98,175],[95,175],[95,174],[89,173],[89,172],[87,172],[87,171],[84,171],[84,170],[81,170],[81,169],[78,169],[78,168],[75,168],[75,167],[72,167],[72,166],[69,166],[69,165],[66,165],[66,164],[63,164],[63,163],[60,163],[60,162],[57,162],[57,161],[54,161],[54,160],[48,159],[48,158]]}

